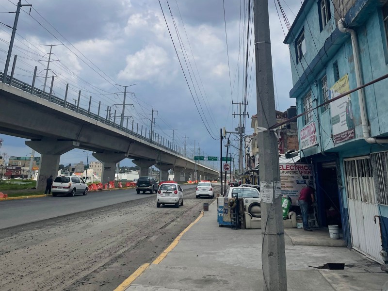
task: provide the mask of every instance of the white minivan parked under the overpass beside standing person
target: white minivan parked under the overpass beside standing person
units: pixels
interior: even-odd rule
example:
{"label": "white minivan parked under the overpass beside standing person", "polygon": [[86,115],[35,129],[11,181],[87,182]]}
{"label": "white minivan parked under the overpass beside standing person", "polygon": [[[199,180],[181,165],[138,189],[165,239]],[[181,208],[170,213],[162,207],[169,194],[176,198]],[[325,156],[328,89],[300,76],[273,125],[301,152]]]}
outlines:
{"label": "white minivan parked under the overpass beside standing person", "polygon": [[88,185],[77,176],[58,176],[52,183],[51,192],[53,196],[57,194],[75,196],[77,193],[87,195]]}

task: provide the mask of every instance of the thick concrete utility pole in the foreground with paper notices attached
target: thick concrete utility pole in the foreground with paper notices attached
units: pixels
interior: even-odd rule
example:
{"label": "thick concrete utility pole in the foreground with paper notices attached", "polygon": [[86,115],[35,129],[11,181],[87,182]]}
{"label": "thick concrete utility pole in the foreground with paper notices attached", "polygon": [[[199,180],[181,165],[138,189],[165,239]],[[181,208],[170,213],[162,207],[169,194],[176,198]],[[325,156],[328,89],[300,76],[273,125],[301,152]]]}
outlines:
{"label": "thick concrete utility pole in the foreground with paper notices attached", "polygon": [[254,0],[256,94],[258,133],[261,228],[264,291],[287,291],[286,251],[281,208],[279,157],[275,132],[268,129],[276,123],[274,79],[268,0]]}

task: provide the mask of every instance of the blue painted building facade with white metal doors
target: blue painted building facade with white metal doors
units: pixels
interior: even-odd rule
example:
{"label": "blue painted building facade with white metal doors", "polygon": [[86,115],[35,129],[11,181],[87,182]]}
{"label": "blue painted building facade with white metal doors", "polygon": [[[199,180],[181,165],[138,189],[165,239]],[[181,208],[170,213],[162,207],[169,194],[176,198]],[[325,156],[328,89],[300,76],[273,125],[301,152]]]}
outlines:
{"label": "blue painted building facade with white metal doors", "polygon": [[349,247],[380,263],[388,262],[388,79],[323,103],[388,74],[387,36],[387,1],[305,0],[284,41],[319,223],[338,224]]}

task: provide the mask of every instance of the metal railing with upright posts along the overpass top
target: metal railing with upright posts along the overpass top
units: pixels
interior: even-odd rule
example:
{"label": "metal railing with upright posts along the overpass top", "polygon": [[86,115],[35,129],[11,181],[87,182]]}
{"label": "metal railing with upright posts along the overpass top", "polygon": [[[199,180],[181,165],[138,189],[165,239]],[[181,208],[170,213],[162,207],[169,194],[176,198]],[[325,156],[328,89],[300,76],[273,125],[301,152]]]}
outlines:
{"label": "metal railing with upright posts along the overpass top", "polygon": [[[155,137],[150,138],[150,137],[146,136],[147,135],[147,131],[145,130],[145,135],[143,135],[143,126],[141,126],[141,130],[140,130],[140,133],[139,133],[139,123],[136,123],[136,130],[135,130],[134,129],[135,124],[134,124],[133,119],[132,119],[131,127],[129,129],[128,128],[128,120],[129,120],[128,117],[127,117],[126,126],[124,127],[124,125],[120,126],[119,124],[115,123],[115,120],[112,121],[110,118],[106,118],[106,117],[100,116],[99,113],[100,113],[100,109],[101,109],[100,108],[101,102],[98,103],[98,112],[97,112],[97,114],[90,111],[90,102],[89,102],[88,110],[86,110],[84,108],[81,108],[79,106],[79,101],[78,101],[77,105],[75,103],[73,104],[71,102],[68,102],[67,98],[66,98],[67,97],[66,95],[67,95],[68,84],[66,85],[66,93],[65,93],[64,99],[55,96],[52,93],[52,89],[50,89],[50,92],[47,93],[47,92],[45,92],[45,91],[43,91],[43,90],[41,90],[39,88],[34,87],[33,85],[35,83],[35,77],[36,76],[34,76],[34,78],[32,80],[32,85],[30,85],[30,84],[28,84],[26,82],[23,82],[23,81],[15,79],[13,77],[12,73],[11,73],[11,76],[7,75],[5,83],[10,85],[10,86],[12,86],[12,87],[15,87],[17,89],[20,89],[20,90],[22,90],[24,92],[30,93],[30,94],[32,94],[34,96],[37,96],[37,97],[40,97],[42,99],[48,100],[49,102],[52,102],[53,104],[57,104],[57,105],[59,105],[59,106],[61,106],[63,108],[69,109],[69,110],[74,111],[76,113],[79,113],[79,114],[81,114],[83,116],[86,116],[86,117],[92,118],[94,120],[97,120],[97,122],[101,122],[103,124],[111,126],[114,129],[118,129],[118,130],[124,131],[124,132],[132,135],[133,137],[137,137],[137,138],[139,138],[141,140],[144,140],[144,141],[146,141],[146,142],[148,142],[150,144],[162,147],[163,149],[169,150],[169,151],[175,153],[178,156],[185,157],[187,159],[191,159],[191,157],[185,156],[182,153],[182,148],[178,147],[177,145],[174,145],[172,142],[168,141],[167,139],[165,139],[164,137],[160,136],[159,134],[155,134]],[[2,80],[2,78],[3,78],[3,72],[0,72],[0,80]],[[52,79],[52,82],[51,82],[51,88],[52,88],[53,80],[54,79]],[[205,165],[205,164],[202,164],[202,165],[210,167],[210,168],[212,168],[212,169],[217,171],[217,169],[214,168],[211,165]]]}

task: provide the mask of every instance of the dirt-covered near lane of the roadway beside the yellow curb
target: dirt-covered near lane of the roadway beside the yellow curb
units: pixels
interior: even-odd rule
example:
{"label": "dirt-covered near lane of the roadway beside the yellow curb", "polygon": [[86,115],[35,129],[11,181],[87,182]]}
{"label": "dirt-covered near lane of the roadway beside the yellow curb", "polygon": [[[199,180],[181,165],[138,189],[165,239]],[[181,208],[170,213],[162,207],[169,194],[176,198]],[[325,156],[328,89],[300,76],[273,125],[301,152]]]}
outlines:
{"label": "dirt-covered near lane of the roadway beside the yellow curb", "polygon": [[0,290],[112,291],[212,201],[195,199],[193,188],[178,209],[156,208],[153,195],[1,229]]}

